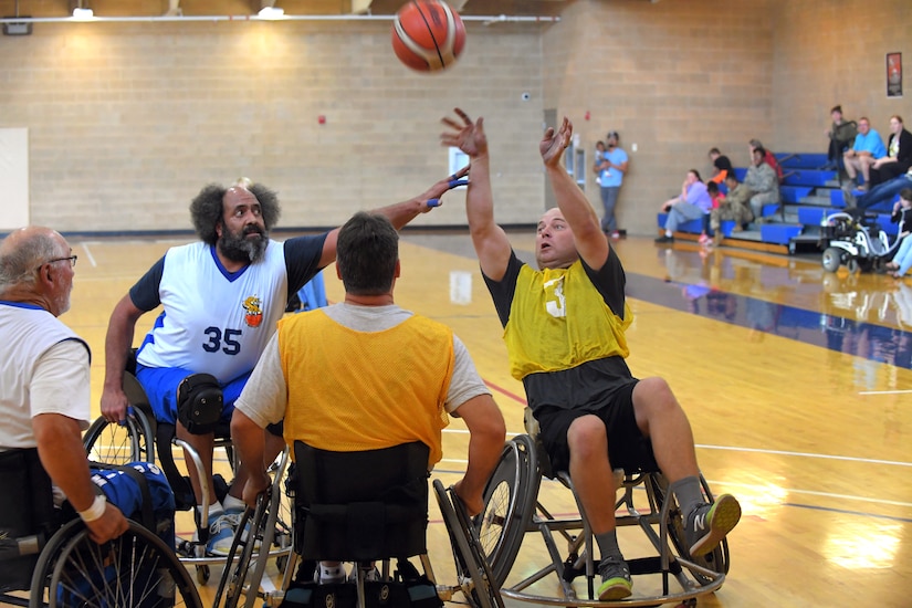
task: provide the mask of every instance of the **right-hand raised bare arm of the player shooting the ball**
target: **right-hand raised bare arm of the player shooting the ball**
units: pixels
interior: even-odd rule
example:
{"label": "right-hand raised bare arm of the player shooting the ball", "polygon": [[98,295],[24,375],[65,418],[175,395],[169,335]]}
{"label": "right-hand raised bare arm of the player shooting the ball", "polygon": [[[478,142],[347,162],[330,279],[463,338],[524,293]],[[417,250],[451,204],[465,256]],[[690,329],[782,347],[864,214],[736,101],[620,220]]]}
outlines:
{"label": "right-hand raised bare arm of the player shooting the ball", "polygon": [[608,239],[601,232],[593,206],[560,163],[572,136],[573,123],[565,116],[559,128],[548,127],[538,144],[538,151],[551,178],[557,206],[573,230],[576,250],[589,268],[599,270],[608,259]]}

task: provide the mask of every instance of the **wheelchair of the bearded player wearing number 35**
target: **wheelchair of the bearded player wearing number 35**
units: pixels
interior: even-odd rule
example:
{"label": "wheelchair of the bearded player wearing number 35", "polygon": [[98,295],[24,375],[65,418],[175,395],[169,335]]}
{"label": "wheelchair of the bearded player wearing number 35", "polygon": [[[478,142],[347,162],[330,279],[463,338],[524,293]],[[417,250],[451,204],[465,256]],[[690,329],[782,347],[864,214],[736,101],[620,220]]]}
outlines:
{"label": "wheelchair of the bearded player wearing number 35", "polygon": [[[178,511],[192,511],[197,534],[193,539],[179,539],[177,552],[180,560],[185,564],[192,564],[196,567],[197,581],[200,585],[208,583],[211,565],[224,563],[224,556],[207,554],[206,545],[209,539],[208,521],[209,506],[216,501],[222,501],[228,493],[228,483],[221,474],[213,475],[214,488],[210,486],[208,476],[203,473],[205,468],[200,454],[185,441],[177,439],[176,426],[156,420],[153,408],[149,405],[143,386],[134,375],[136,370],[136,349],[132,349],[127,357],[127,368],[124,373],[124,392],[127,396],[129,408],[127,418],[123,424],[113,424],[98,418],[86,430],[83,442],[90,459],[108,464],[124,464],[129,461],[155,462],[158,457],[158,464],[171,490],[175,494],[175,503]],[[234,450],[231,444],[231,431],[227,423],[219,422],[214,430],[214,449],[222,449],[234,471]],[[172,448],[178,447],[185,450],[190,461],[187,465],[192,465],[198,473],[202,492],[202,514],[198,514],[193,509],[196,497],[193,495],[190,480],[184,475],[175,462]],[[290,552],[291,536],[280,531],[274,545],[277,548],[271,552],[273,557],[283,559]]]}

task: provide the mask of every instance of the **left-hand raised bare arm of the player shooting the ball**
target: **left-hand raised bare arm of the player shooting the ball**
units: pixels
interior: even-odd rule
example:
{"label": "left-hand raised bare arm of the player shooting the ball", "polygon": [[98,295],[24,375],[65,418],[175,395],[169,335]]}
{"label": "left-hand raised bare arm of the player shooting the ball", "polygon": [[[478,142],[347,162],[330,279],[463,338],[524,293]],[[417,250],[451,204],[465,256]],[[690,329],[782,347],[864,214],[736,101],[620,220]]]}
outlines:
{"label": "left-hand raised bare arm of the player shooting the ball", "polygon": [[469,191],[465,195],[465,214],[472,244],[479,256],[481,271],[494,281],[503,279],[510,262],[512,248],[506,232],[494,222],[494,197],[491,193],[491,167],[488,157],[488,138],[484,118],[475,123],[460,108],[454,111],[459,120],[442,119],[450,130],[440,135],[440,143],[454,146],[471,159]]}

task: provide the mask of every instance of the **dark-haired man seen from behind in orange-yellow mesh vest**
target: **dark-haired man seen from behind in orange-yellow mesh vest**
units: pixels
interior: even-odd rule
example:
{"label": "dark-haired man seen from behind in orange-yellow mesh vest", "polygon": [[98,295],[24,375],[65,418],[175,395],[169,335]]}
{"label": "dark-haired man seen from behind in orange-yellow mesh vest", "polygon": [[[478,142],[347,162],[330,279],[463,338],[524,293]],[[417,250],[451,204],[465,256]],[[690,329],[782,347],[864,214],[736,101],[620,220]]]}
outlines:
{"label": "dark-haired man seen from behind in orange-yellow mesh vest", "polygon": [[[441,458],[447,415],[469,428],[469,463],[455,492],[471,514],[503,448],[505,427],[491,391],[452,331],[394,303],[398,234],[382,217],[355,214],[338,234],[336,272],[345,301],[280,322],[235,402],[231,436],[241,460],[263,461],[262,429],[284,419],[285,441],[333,451],[412,441]],[[251,471],[243,499],[269,485]],[[334,576],[335,575],[335,576]],[[321,579],[343,573],[324,563]]]}

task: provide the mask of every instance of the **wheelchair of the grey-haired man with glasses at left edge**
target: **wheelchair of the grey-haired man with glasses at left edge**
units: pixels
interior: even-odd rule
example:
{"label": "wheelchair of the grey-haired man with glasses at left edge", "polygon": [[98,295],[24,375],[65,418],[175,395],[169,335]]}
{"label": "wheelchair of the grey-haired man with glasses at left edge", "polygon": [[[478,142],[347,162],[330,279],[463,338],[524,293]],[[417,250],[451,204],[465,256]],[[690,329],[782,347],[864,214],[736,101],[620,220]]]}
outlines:
{"label": "wheelchair of the grey-haired man with glasses at left edge", "polygon": [[4,494],[0,509],[0,604],[202,606],[174,548],[146,527],[130,521],[97,545],[72,507],[54,507],[36,449],[0,453],[0,483],[20,490]]}

